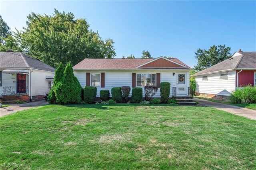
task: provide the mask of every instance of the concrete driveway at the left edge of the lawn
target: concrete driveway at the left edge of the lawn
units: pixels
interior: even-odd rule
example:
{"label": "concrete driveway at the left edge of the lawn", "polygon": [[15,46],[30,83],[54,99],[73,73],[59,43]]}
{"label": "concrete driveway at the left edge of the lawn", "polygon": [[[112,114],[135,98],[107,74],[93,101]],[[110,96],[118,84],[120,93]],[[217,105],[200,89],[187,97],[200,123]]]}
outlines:
{"label": "concrete driveway at the left edge of the lawn", "polygon": [[31,109],[31,108],[38,107],[38,106],[44,106],[47,104],[48,104],[48,102],[45,100],[38,100],[36,102],[28,102],[25,104],[10,104],[12,106],[0,108],[0,117],[4,116],[4,115],[9,115],[9,114],[15,113],[17,111]]}

